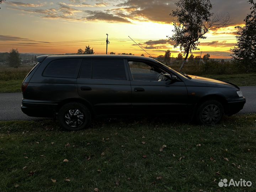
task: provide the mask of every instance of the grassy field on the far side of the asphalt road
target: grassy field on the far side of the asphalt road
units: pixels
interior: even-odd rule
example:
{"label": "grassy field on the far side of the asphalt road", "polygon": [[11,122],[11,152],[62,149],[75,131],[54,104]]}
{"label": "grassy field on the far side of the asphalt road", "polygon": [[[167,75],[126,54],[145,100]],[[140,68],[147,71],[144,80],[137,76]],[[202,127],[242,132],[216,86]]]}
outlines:
{"label": "grassy field on the far side of the asphalt road", "polygon": [[[20,92],[21,84],[33,66],[0,67],[0,92]],[[177,66],[176,66],[177,68]],[[187,71],[186,71],[187,72]],[[187,72],[187,74],[190,74]],[[232,82],[238,86],[256,85],[256,74],[202,74],[201,76]]]}

